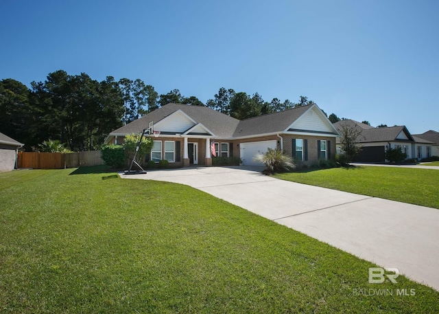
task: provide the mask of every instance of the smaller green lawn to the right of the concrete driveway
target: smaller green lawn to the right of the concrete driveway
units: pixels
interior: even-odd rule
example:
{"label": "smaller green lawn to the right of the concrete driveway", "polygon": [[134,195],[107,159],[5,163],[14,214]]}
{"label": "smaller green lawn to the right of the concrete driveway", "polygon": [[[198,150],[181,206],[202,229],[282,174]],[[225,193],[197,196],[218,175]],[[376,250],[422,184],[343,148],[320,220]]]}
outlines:
{"label": "smaller green lawn to the right of the concrete driveway", "polygon": [[439,171],[433,169],[360,166],[280,173],[274,177],[312,186],[439,208]]}

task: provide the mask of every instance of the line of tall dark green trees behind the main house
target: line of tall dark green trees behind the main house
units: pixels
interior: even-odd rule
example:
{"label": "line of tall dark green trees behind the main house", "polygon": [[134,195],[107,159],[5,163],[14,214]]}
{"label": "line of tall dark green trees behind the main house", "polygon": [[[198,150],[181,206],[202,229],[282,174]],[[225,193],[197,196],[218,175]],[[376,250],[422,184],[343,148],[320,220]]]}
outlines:
{"label": "line of tall dark green trees behind the main house", "polygon": [[110,131],[169,102],[209,106],[239,120],[314,104],[305,96],[298,102],[278,98],[267,102],[259,93],[250,96],[224,87],[204,104],[195,96],[182,96],[178,89],[159,95],[140,79],[117,81],[107,76],[99,82],[85,73],[58,70],[44,82],[32,82],[30,89],[12,78],[0,80],[0,132],[24,143],[25,150],[38,150],[38,144],[48,139],[59,140],[72,151],[95,150]]}

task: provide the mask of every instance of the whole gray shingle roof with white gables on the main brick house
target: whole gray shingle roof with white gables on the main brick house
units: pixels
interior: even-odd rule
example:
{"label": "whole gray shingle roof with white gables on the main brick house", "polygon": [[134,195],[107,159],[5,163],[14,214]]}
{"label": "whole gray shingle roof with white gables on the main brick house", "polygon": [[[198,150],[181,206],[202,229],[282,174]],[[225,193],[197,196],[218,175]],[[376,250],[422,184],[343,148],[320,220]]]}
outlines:
{"label": "whole gray shingle roof with white gables on the main brick house", "polygon": [[[314,122],[310,126],[300,122],[305,121],[302,117],[309,113]],[[154,131],[164,134],[208,135],[223,139],[293,132],[340,135],[316,104],[239,121],[209,107],[170,103],[112,131],[106,141],[110,136],[140,133],[151,121],[154,121]],[[299,122],[300,129],[294,128],[295,122]]]}

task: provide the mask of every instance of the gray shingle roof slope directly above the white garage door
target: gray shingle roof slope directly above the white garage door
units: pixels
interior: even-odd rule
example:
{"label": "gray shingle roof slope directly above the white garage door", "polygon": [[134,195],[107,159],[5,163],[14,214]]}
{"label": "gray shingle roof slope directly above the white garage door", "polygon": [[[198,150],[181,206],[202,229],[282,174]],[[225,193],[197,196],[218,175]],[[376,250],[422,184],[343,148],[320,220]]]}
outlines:
{"label": "gray shingle roof slope directly above the white garage door", "polygon": [[309,104],[307,106],[300,106],[294,109],[241,120],[235,133],[233,133],[233,137],[283,132],[290,124],[296,121],[298,117],[305,113],[310,106],[312,105]]}

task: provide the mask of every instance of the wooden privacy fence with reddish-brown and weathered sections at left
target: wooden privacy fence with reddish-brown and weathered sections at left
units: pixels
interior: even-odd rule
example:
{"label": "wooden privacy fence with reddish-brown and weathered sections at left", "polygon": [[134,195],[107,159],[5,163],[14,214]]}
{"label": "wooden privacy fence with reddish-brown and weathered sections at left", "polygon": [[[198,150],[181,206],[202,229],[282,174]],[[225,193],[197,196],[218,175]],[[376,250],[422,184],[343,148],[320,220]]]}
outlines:
{"label": "wooden privacy fence with reddish-brown and weathered sections at left", "polygon": [[100,150],[78,153],[19,152],[19,168],[64,169],[103,165]]}

